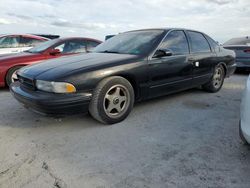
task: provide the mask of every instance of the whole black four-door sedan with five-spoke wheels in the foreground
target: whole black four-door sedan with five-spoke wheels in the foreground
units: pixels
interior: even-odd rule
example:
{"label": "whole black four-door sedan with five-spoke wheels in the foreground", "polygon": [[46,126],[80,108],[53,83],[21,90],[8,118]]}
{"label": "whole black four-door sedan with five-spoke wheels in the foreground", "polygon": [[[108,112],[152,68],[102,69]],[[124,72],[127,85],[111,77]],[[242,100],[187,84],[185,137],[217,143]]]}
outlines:
{"label": "whole black four-door sedan with five-spoke wheels in the foreground", "polygon": [[89,111],[96,120],[113,124],[129,115],[135,101],[197,86],[217,92],[235,66],[235,53],[204,33],[137,30],[112,37],[93,53],[24,67],[10,89],[35,111]]}

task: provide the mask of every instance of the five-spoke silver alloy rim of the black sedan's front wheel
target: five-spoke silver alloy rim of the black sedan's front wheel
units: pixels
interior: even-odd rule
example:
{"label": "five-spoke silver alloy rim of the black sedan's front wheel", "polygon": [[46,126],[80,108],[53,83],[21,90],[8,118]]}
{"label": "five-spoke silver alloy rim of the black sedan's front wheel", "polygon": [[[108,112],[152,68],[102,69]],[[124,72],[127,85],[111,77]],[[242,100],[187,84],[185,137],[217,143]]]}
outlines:
{"label": "five-spoke silver alloy rim of the black sedan's front wheel", "polygon": [[112,86],[103,100],[104,111],[109,117],[121,116],[127,111],[130,103],[129,91],[122,85]]}

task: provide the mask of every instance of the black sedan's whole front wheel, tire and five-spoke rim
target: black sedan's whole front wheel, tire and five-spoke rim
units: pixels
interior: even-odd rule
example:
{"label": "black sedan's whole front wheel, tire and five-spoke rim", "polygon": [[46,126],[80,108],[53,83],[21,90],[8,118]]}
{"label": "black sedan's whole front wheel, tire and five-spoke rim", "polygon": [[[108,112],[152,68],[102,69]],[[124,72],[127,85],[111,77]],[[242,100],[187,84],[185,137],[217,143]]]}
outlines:
{"label": "black sedan's whole front wheel, tire and five-spoke rim", "polygon": [[[116,90],[119,89],[119,97],[123,98],[124,101],[115,98]],[[113,90],[115,92],[113,92]],[[113,92],[113,94],[109,94]],[[121,96],[121,93],[124,96]],[[110,96],[109,99],[107,96]],[[128,80],[120,76],[113,76],[102,80],[93,92],[93,96],[89,105],[89,112],[94,119],[104,124],[114,124],[123,121],[131,112],[134,105],[134,90]],[[107,102],[108,101],[108,102]],[[121,102],[122,101],[122,102]],[[113,108],[112,111],[108,112],[109,106],[120,106],[119,110]],[[123,106],[122,106],[123,105]],[[108,106],[108,107],[107,107]],[[121,107],[122,106],[122,107]],[[112,114],[113,113],[113,114]]]}

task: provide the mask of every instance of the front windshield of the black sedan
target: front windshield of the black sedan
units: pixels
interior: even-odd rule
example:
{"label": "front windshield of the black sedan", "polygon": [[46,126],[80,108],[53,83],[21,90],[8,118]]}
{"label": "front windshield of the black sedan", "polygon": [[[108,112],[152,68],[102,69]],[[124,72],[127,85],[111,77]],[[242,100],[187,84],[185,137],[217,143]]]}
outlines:
{"label": "front windshield of the black sedan", "polygon": [[152,50],[163,32],[147,30],[122,33],[97,46],[94,52],[143,55]]}

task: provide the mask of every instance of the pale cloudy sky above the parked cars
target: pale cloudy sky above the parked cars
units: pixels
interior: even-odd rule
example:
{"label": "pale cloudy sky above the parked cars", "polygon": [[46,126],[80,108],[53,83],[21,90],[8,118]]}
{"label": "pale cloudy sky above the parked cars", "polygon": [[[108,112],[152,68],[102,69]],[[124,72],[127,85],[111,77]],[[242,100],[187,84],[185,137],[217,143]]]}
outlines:
{"label": "pale cloudy sky above the parked cars", "polygon": [[1,33],[51,33],[103,40],[152,27],[203,31],[224,42],[250,35],[249,0],[0,0]]}

